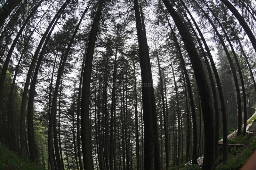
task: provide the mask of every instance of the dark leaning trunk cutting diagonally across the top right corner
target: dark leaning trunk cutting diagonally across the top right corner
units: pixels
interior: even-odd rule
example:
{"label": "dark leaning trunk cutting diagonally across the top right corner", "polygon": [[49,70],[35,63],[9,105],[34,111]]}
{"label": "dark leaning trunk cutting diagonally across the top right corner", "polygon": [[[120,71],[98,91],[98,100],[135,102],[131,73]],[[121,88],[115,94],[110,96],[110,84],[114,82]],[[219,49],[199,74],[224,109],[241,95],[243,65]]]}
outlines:
{"label": "dark leaning trunk cutting diagonally across the top right corner", "polygon": [[249,37],[252,46],[256,52],[256,39],[255,36],[252,33],[252,30],[250,29],[250,27],[248,26],[248,24],[246,23],[246,21],[244,20],[244,18],[242,17],[242,15],[236,10],[236,8],[228,1],[228,0],[220,0],[221,2],[223,2],[228,9],[233,13],[233,15],[236,17],[236,19],[238,20],[238,22],[241,24],[241,26],[244,28],[245,33],[247,34],[247,36]]}

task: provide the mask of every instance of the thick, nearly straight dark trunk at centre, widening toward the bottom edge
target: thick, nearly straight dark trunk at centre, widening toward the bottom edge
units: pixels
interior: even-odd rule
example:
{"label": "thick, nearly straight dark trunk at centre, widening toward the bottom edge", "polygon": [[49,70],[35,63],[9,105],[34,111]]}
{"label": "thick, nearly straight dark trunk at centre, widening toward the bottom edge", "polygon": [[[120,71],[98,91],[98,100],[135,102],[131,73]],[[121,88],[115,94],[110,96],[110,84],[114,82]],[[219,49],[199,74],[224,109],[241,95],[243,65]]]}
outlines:
{"label": "thick, nearly straight dark trunk at centre, widening toward the bottom edge", "polygon": [[153,88],[151,65],[149,59],[148,43],[145,29],[142,28],[142,22],[137,0],[134,0],[134,11],[136,19],[136,29],[139,43],[141,83],[142,83],[142,101],[143,101],[143,119],[144,119],[144,168],[161,169],[160,151],[158,142],[156,102]]}

